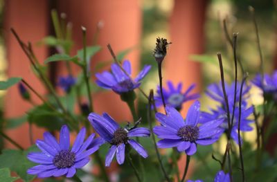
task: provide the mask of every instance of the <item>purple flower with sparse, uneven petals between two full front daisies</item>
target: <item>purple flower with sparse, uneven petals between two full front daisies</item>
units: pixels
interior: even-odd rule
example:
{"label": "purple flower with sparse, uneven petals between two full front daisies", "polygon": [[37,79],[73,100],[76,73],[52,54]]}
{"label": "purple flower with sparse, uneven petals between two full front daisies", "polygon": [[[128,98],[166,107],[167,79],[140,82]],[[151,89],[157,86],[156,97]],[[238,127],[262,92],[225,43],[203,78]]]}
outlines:
{"label": "purple flower with sparse, uneven petals between two full front daisies", "polygon": [[133,140],[130,137],[148,137],[150,136],[149,129],[143,127],[134,129],[120,127],[107,113],[103,113],[102,116],[97,113],[90,113],[88,119],[93,128],[99,134],[100,138],[102,138],[102,140],[98,140],[98,145],[102,145],[103,143],[111,144],[109,152],[106,155],[105,165],[107,167],[111,164],[115,154],[118,164],[121,165],[124,163],[125,146],[127,144],[131,145],[136,152],[143,156],[143,158],[148,157],[148,153],[145,149],[137,143],[136,140]]}

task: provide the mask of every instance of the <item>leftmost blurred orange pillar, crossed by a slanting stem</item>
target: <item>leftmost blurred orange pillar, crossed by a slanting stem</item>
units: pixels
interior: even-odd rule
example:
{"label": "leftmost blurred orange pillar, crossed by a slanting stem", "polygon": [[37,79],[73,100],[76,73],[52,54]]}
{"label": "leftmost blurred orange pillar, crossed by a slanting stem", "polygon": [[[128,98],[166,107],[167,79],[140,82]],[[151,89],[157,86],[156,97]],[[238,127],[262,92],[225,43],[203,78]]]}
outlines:
{"label": "leftmost blurred orange pillar, crossed by a slanting stem", "polygon": [[[8,76],[22,77],[39,93],[44,93],[42,84],[35,77],[26,55],[21,50],[17,40],[10,32],[10,28],[14,28],[21,39],[28,42],[38,42],[42,37],[48,34],[48,6],[47,1],[5,1],[5,28],[4,37],[6,40],[6,56],[8,60]],[[47,55],[45,47],[33,46],[34,51],[40,61],[44,61]],[[32,95],[34,101],[39,100]],[[14,118],[26,114],[31,105],[22,100],[17,87],[8,90],[5,100],[5,116],[6,118]],[[14,139],[24,147],[30,146],[28,137],[28,124],[25,123],[17,129],[6,131],[10,138]],[[34,138],[42,138],[42,129],[33,127]],[[7,143],[8,147],[13,147]]]}

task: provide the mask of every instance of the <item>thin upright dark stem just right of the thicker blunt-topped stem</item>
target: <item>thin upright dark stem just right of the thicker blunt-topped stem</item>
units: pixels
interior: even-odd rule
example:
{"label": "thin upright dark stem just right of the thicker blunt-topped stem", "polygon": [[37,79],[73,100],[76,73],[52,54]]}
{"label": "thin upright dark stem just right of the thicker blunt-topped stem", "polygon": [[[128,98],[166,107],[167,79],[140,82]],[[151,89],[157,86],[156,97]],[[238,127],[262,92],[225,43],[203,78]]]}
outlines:
{"label": "thin upright dark stem just right of the thicker blunt-topped stem", "polygon": [[[234,63],[235,63],[235,91],[234,91],[234,99],[233,99],[233,112],[232,112],[232,119],[231,119],[231,129],[233,127],[233,119],[235,116],[235,102],[237,98],[237,87],[238,87],[238,61],[237,61],[237,53],[236,53],[236,45],[237,45],[237,37],[238,34],[233,34],[233,57],[234,57]],[[228,103],[226,103],[228,104]],[[231,129],[229,128],[230,132]]]}

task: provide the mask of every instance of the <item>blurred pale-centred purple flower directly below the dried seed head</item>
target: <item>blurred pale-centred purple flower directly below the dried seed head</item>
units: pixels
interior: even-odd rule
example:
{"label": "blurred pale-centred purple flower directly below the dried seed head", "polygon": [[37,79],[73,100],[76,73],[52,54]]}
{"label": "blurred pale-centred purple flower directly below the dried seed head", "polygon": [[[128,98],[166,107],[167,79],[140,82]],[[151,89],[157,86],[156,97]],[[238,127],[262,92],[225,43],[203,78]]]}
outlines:
{"label": "blurred pale-centred purple flower directly below the dried seed head", "polygon": [[[194,100],[199,98],[199,94],[194,93],[190,94],[190,91],[192,91],[195,88],[195,84],[190,85],[188,89],[182,93],[182,87],[183,84],[179,82],[177,87],[175,88],[173,86],[173,83],[168,81],[168,90],[163,88],[163,97],[165,99],[165,102],[167,105],[170,105],[174,107],[177,110],[181,110],[182,104],[188,100]],[[163,100],[161,98],[161,90],[159,86],[157,87],[157,95],[154,96],[155,104],[157,107],[160,107],[163,105]]]}

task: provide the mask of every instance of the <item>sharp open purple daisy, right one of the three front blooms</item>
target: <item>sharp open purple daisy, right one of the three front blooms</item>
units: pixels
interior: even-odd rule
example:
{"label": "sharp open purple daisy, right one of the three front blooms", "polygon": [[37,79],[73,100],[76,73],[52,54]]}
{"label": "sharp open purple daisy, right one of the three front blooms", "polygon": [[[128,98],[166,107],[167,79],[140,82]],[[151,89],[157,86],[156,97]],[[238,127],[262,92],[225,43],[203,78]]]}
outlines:
{"label": "sharp open purple daisy, right one of the three front blooms", "polygon": [[162,138],[157,143],[160,148],[177,147],[179,152],[186,152],[191,156],[197,150],[199,145],[211,145],[218,140],[218,134],[222,133],[222,129],[218,126],[222,123],[222,119],[210,120],[204,125],[199,124],[200,102],[197,100],[188,109],[186,121],[181,114],[173,107],[166,106],[166,112],[156,113],[156,118],[161,122],[161,126],[154,127],[154,134],[158,138]]}

